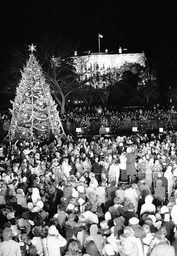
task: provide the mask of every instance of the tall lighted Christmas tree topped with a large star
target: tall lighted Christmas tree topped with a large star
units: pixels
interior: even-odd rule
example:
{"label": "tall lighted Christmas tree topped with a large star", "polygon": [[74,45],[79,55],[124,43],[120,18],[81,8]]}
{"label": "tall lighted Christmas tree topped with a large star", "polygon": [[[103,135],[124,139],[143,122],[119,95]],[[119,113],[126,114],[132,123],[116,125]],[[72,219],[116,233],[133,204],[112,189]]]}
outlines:
{"label": "tall lighted Christmas tree topped with a large star", "polygon": [[10,140],[45,140],[50,129],[57,136],[64,134],[50,87],[45,82],[41,67],[33,50],[22,72],[22,79],[16,89],[12,120],[8,132]]}

